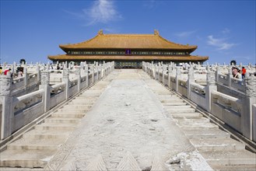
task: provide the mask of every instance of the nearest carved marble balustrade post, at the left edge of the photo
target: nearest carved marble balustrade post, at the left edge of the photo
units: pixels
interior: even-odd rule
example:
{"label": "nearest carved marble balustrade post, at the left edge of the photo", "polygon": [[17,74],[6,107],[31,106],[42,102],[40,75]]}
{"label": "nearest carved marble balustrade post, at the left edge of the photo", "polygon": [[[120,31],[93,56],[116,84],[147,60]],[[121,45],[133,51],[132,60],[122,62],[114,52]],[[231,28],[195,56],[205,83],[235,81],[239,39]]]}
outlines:
{"label": "nearest carved marble balustrade post, at the left edge of the photo", "polygon": [[14,113],[11,91],[11,72],[7,72],[7,75],[0,75],[0,100],[2,101],[1,140],[12,134]]}

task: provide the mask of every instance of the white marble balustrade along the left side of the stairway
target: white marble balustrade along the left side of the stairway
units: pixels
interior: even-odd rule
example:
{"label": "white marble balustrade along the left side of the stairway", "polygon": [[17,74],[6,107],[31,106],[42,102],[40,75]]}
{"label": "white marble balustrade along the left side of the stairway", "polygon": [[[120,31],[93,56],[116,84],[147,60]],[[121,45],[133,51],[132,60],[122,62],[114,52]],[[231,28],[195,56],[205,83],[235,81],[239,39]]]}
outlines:
{"label": "white marble balustrade along the left side of the stairway", "polygon": [[[103,63],[100,66],[95,63],[89,65],[89,69],[88,65],[80,65],[71,70],[65,65],[61,71],[61,82],[51,85],[51,70],[46,67],[40,72],[39,89],[23,96],[12,96],[13,89],[17,89],[18,86],[13,83],[16,80],[12,79],[10,72],[7,75],[0,75],[1,140],[8,138],[13,132],[47,113],[54,106],[65,102],[80,90],[103,79],[113,70],[114,62]],[[74,73],[72,78],[69,77],[70,71]],[[37,76],[34,77],[37,78]]]}

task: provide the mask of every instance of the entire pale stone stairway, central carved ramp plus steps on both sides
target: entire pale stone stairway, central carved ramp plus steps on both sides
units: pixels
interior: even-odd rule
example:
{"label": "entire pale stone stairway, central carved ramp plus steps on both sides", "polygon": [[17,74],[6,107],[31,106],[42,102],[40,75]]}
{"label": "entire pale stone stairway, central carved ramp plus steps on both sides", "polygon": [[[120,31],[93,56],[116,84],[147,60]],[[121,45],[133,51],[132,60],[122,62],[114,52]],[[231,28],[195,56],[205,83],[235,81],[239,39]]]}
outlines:
{"label": "entire pale stone stairway, central carved ramp plus steps on both sides", "polygon": [[[13,142],[0,153],[1,170],[254,170],[256,164],[242,143],[142,70],[115,70],[23,135],[30,137],[54,143]],[[12,159],[16,150],[24,159],[26,150],[44,150],[44,163]]]}

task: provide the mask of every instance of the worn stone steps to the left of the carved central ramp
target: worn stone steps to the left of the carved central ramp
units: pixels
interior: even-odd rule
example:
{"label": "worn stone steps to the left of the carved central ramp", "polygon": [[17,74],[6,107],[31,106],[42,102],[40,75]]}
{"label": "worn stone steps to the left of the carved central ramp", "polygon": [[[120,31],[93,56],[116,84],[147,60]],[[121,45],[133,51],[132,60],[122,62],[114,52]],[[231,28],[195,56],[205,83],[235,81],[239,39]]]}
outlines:
{"label": "worn stone steps to the left of the carved central ramp", "polygon": [[[109,83],[97,82],[65,106],[51,113],[50,117],[27,131],[21,138],[7,145],[7,149],[0,153],[0,170],[40,170],[38,168],[43,169],[47,166]],[[77,100],[79,104],[76,104]],[[74,170],[74,165],[64,168]]]}

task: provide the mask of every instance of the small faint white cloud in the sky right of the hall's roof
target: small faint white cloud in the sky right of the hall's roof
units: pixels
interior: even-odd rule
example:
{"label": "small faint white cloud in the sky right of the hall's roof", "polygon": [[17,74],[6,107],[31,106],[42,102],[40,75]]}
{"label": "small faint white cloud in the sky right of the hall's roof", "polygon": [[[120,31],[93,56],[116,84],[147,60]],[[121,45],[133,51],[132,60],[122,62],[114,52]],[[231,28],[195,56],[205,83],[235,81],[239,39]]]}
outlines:
{"label": "small faint white cloud in the sky right of the hall's roof", "polygon": [[209,45],[212,45],[213,47],[218,47],[218,50],[229,50],[231,47],[237,45],[237,44],[231,44],[227,43],[226,39],[217,39],[214,38],[212,35],[208,37],[207,43]]}

